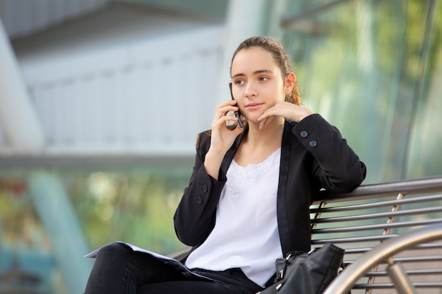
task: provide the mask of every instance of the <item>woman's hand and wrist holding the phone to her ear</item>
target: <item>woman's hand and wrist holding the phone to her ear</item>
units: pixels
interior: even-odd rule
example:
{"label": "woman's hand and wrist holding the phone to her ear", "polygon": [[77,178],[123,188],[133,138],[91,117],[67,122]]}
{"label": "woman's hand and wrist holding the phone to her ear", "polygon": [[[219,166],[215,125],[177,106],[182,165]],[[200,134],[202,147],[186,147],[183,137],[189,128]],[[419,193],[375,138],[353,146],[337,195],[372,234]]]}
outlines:
{"label": "woman's hand and wrist holding the phone to her ear", "polygon": [[207,173],[213,178],[218,178],[222,159],[227,150],[232,147],[236,137],[244,130],[239,125],[236,128],[227,128],[227,122],[236,122],[235,116],[227,115],[229,111],[237,111],[238,106],[234,100],[227,100],[217,105],[215,110],[215,117],[212,122],[212,135],[210,138],[210,147],[205,154],[204,167]]}

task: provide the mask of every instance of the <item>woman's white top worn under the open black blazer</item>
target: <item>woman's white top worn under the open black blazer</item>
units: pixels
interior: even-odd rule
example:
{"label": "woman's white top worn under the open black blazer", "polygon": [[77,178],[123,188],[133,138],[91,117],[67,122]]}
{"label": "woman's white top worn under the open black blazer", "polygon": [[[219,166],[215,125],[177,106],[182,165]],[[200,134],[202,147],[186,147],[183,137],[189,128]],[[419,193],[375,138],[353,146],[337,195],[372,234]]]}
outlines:
{"label": "woman's white top worn under the open black blazer", "polygon": [[186,260],[189,269],[240,268],[259,286],[275,274],[282,258],[276,198],[281,149],[260,164],[239,166],[234,160],[217,204],[215,228]]}

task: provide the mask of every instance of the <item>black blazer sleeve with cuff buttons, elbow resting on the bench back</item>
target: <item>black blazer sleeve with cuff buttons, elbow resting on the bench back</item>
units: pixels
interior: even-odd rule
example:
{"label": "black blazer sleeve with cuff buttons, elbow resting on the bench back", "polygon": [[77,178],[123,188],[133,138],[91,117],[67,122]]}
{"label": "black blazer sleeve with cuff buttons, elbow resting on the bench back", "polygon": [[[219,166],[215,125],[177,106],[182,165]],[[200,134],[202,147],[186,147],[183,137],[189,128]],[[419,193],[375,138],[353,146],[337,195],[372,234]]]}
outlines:
{"label": "black blazer sleeve with cuff buttons, elbow resting on the bench back", "polygon": [[348,192],[362,183],[366,166],[340,132],[319,114],[307,116],[292,129],[313,155],[316,185],[331,192]]}

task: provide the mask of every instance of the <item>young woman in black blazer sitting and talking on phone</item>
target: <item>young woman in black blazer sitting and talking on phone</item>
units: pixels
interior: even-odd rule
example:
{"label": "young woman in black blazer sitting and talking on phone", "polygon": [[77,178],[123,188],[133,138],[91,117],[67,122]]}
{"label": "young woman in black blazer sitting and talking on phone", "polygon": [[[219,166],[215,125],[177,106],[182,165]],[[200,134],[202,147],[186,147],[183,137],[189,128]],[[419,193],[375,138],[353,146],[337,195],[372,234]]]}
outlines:
{"label": "young woman in black blazer sitting and talking on phone", "polygon": [[230,73],[235,100],[219,104],[211,130],[198,135],[174,215],[179,240],[193,246],[184,264],[211,279],[112,243],[99,252],[85,293],[256,293],[271,283],[275,259],[310,250],[316,193],[347,192],[364,180],[365,165],[339,131],[300,105],[279,42],[246,39]]}

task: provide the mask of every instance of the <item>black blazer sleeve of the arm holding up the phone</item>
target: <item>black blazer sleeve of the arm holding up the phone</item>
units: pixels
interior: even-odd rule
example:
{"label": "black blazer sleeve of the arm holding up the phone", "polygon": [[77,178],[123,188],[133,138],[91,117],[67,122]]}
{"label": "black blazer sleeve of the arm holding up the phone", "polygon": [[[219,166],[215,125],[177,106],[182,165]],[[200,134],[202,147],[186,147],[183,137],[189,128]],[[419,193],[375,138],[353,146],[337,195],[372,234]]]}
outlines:
{"label": "black blazer sleeve of the arm holding up the phone", "polygon": [[204,159],[209,146],[210,135],[199,134],[191,179],[174,214],[177,237],[189,246],[203,243],[213,230],[217,203],[227,180],[222,170],[218,180],[205,171]]}

